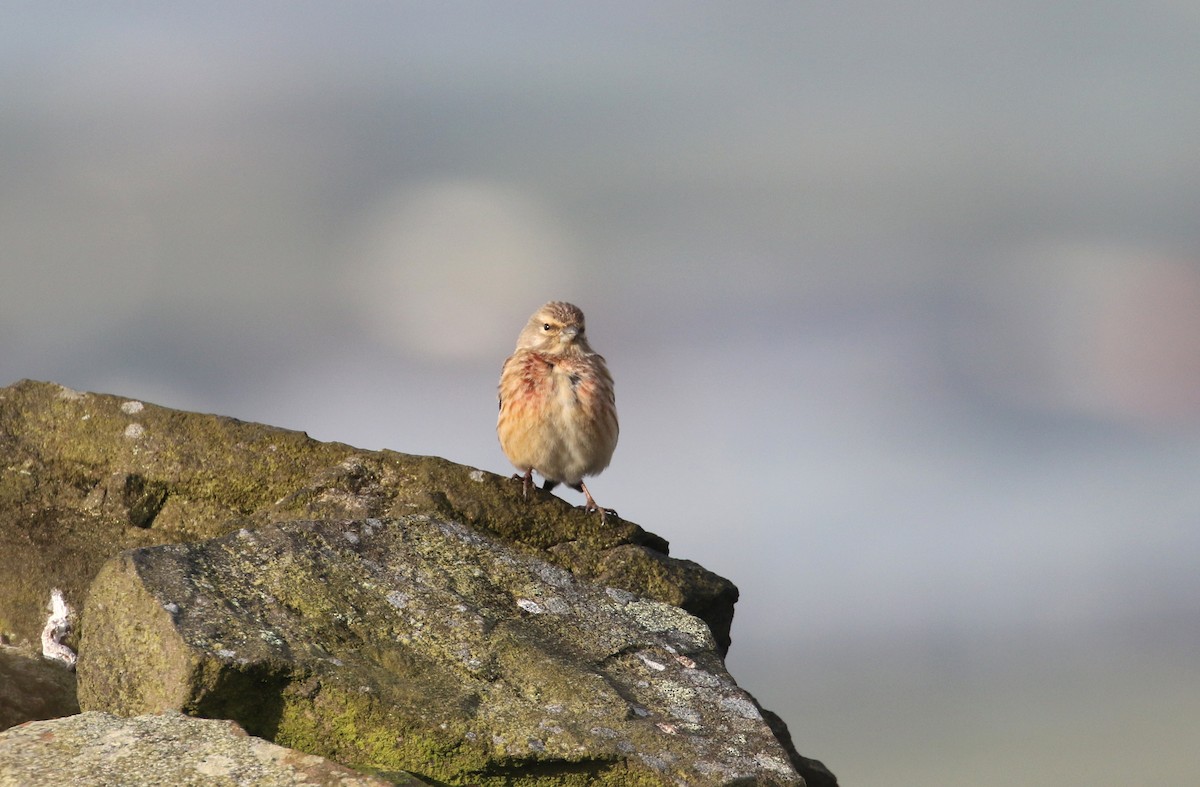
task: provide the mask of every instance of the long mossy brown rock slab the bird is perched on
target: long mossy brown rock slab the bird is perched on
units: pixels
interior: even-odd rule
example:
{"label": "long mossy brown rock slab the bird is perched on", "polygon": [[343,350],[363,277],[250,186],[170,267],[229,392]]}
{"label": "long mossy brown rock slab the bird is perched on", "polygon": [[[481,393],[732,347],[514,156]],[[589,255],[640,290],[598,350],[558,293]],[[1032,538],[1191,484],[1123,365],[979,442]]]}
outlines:
{"label": "long mossy brown rock slab the bird is perched on", "polygon": [[79,602],[118,552],[269,522],[427,513],[524,543],[581,577],[682,606],[728,645],[737,588],[636,524],[436,457],[82,394],[0,389],[0,637],[34,642],[50,588]]}

